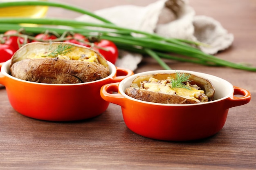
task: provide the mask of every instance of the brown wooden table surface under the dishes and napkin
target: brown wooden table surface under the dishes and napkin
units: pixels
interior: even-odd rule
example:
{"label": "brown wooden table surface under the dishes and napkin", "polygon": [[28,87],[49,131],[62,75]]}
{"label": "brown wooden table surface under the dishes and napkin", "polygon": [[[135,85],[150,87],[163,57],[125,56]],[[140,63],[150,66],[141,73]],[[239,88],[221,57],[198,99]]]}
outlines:
{"label": "brown wooden table surface under the dishes and napkin", "polygon": [[[155,0],[59,0],[90,11],[120,4],[147,5]],[[234,34],[231,48],[216,55],[256,66],[256,1],[191,0],[197,15],[220,21]],[[74,18],[77,13],[49,9],[48,16]],[[252,94],[249,104],[230,108],[225,126],[200,141],[172,142],[130,131],[121,107],[110,104],[94,119],[49,122],[17,113],[0,90],[0,170],[255,170],[256,73],[169,61],[173,69],[216,75]],[[162,69],[148,57],[135,73]]]}

